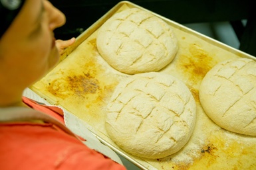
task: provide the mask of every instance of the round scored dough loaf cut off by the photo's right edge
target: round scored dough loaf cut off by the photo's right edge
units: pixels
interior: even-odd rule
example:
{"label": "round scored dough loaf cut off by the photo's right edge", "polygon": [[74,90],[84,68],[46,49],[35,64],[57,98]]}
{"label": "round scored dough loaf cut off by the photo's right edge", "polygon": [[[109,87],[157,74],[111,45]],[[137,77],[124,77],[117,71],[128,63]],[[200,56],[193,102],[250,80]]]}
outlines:
{"label": "round scored dough loaf cut off by the photo's right edge", "polygon": [[239,58],[215,65],[199,98],[206,114],[226,130],[256,136],[256,62]]}

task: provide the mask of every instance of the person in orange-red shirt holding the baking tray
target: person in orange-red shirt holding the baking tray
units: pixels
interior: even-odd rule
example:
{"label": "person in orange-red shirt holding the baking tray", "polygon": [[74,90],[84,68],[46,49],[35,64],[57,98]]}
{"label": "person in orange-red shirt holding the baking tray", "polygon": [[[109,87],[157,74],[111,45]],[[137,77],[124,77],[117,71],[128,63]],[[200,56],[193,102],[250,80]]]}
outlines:
{"label": "person in orange-red shirt holding the baking tray", "polygon": [[68,130],[61,108],[23,97],[75,41],[55,40],[63,13],[46,0],[0,0],[0,14],[1,169],[126,169]]}

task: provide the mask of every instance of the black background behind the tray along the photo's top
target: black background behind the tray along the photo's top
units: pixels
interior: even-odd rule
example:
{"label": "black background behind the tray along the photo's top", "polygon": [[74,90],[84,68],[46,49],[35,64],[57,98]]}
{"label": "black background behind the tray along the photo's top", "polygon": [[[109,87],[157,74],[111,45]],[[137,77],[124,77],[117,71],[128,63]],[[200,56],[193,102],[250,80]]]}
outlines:
{"label": "black background behind the tray along the photo's top", "polygon": [[[66,24],[55,30],[56,38],[81,34],[120,1],[50,0],[66,15]],[[228,21],[240,42],[239,50],[256,56],[255,5],[249,0],[138,0],[130,1],[180,24]],[[242,20],[247,20],[243,25]]]}

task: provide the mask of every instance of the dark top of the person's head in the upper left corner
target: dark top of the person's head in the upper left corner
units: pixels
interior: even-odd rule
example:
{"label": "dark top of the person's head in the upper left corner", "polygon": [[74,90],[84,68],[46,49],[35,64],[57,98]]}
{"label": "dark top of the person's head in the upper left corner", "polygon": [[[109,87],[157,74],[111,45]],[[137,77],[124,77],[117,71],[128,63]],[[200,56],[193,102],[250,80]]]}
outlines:
{"label": "dark top of the person's head in the upper left corner", "polygon": [[0,38],[13,22],[25,0],[0,0]]}

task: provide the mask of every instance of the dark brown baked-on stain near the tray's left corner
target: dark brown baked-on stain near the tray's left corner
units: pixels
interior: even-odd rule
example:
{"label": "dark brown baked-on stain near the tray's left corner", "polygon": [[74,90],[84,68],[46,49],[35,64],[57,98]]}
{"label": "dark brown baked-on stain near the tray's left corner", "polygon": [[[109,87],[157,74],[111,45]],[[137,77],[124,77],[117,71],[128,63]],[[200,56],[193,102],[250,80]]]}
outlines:
{"label": "dark brown baked-on stain near the tray's left corner", "polygon": [[94,94],[100,90],[98,79],[95,79],[90,73],[82,73],[80,75],[68,75],[62,79],[55,79],[47,87],[48,91],[65,99],[68,96],[76,95],[85,98],[88,94]]}

